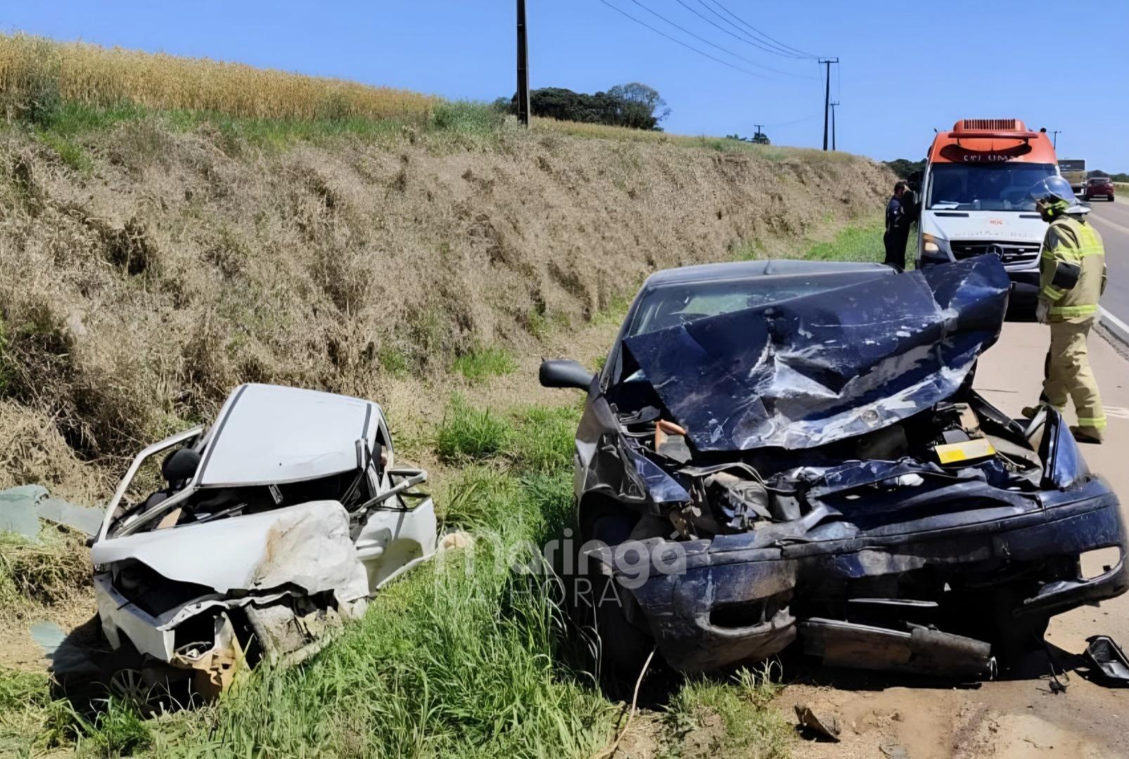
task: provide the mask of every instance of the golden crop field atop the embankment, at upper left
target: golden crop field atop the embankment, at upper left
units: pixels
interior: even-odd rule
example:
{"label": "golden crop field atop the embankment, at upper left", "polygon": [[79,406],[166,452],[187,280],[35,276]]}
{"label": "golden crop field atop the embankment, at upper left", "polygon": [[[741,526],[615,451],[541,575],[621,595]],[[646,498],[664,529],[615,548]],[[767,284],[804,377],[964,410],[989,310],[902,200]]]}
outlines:
{"label": "golden crop field atop the embankment, at upper left", "polygon": [[0,92],[14,111],[51,98],[113,106],[215,111],[252,118],[426,120],[437,98],[242,63],[0,35]]}

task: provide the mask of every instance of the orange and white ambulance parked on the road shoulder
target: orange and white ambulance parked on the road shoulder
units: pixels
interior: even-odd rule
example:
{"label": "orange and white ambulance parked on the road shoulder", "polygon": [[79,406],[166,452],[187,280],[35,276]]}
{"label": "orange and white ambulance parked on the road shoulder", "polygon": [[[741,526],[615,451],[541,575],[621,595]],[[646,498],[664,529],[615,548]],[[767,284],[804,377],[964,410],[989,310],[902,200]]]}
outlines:
{"label": "orange and white ambulance parked on the road shoulder", "polygon": [[938,132],[920,184],[918,267],[999,256],[1012,302],[1032,306],[1047,222],[1029,192],[1058,173],[1047,130],[1031,131],[1017,118],[964,118]]}

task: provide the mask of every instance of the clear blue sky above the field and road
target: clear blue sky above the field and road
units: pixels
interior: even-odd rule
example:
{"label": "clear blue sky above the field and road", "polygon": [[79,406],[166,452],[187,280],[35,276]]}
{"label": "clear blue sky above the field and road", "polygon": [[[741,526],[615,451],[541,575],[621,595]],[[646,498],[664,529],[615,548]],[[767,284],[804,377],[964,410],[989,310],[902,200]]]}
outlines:
{"label": "clear blue sky above the field and road", "polygon": [[[595,91],[642,81],[666,98],[667,131],[752,134],[753,124],[763,123],[776,143],[819,147],[823,92],[815,62],[773,55],[730,36],[691,12],[736,32],[701,0],[606,1],[765,78],[686,50],[601,0],[528,0],[533,87]],[[1032,127],[1061,130],[1061,158],[1129,171],[1123,139],[1129,3],[1122,0],[1077,6],[719,1],[785,45],[841,59],[838,70],[832,67],[832,98],[842,103],[842,150],[916,159],[925,155],[934,127],[951,127],[965,116],[1017,116]],[[58,39],[240,61],[450,98],[493,99],[514,91],[511,0],[7,5],[0,16],[7,29]]]}

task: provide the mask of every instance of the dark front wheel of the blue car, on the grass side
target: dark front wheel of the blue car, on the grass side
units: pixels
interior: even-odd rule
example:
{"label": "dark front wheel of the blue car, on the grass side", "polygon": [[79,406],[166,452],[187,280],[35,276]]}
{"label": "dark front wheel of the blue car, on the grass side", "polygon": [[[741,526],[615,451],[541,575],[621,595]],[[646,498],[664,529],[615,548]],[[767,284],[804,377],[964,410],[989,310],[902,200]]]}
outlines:
{"label": "dark front wheel of the blue car, on the grass side", "polygon": [[[601,517],[592,526],[592,539],[618,546],[631,535],[631,522],[623,517]],[[631,591],[589,564],[593,624],[598,635],[599,673],[607,685],[634,683],[644,662],[655,645],[654,639],[628,619],[634,611],[641,615]],[[642,620],[639,620],[642,624]]]}

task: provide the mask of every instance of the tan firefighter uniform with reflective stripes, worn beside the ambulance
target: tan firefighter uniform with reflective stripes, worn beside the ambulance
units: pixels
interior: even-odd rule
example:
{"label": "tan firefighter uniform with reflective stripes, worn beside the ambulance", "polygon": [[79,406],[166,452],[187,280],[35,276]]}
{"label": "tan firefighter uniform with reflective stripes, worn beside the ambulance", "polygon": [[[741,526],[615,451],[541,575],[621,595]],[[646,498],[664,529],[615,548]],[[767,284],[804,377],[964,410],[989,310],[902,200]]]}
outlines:
{"label": "tan firefighter uniform with reflective stripes, worn beside the ambulance", "polygon": [[[1080,266],[1078,281],[1070,289],[1052,282],[1062,262]],[[1059,412],[1068,398],[1073,399],[1078,426],[1100,434],[1105,429],[1105,413],[1086,351],[1086,338],[1097,320],[1097,299],[1105,290],[1105,249],[1097,230],[1077,217],[1054,219],[1043,239],[1039,270],[1039,294],[1050,305],[1047,321],[1051,328],[1043,399]]]}

